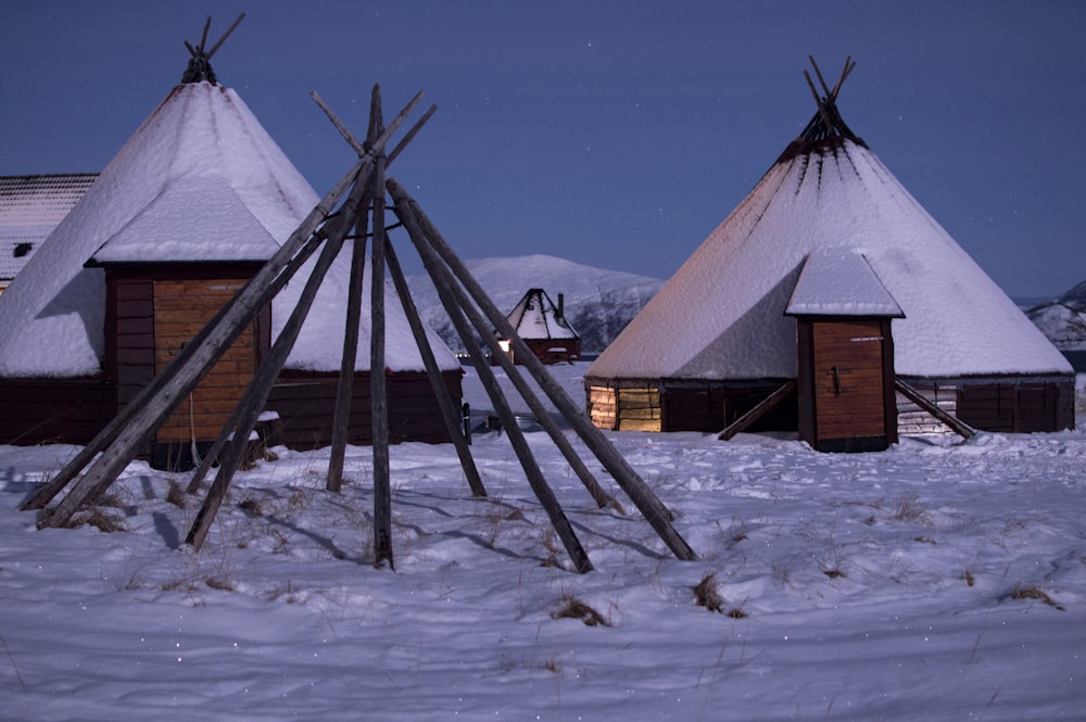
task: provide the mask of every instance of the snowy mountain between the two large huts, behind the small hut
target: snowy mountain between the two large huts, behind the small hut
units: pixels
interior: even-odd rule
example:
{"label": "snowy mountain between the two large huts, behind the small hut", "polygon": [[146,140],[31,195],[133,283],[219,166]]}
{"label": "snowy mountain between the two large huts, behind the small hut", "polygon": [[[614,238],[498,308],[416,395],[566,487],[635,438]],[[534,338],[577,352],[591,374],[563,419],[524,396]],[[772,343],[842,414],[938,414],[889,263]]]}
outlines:
{"label": "snowy mountain between the two large huts, behind the small hut", "polygon": [[[529,289],[543,289],[555,303],[561,294],[566,320],[581,338],[586,354],[603,351],[664,284],[656,278],[548,255],[482,258],[464,264],[503,313],[512,312]],[[452,349],[463,349],[430,278],[412,276],[408,284],[422,319]]]}

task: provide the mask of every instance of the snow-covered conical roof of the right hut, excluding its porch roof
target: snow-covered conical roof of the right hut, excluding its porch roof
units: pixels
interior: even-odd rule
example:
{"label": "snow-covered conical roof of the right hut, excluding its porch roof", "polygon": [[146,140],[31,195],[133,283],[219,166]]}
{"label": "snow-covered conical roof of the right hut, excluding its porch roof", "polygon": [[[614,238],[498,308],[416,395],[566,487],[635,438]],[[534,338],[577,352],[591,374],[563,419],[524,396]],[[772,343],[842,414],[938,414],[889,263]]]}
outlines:
{"label": "snow-covered conical roof of the right hut, excluding its porch roof", "polygon": [[603,378],[796,375],[804,258],[863,254],[906,317],[902,376],[1071,372],[1068,360],[867,148],[782,157],[589,369]]}

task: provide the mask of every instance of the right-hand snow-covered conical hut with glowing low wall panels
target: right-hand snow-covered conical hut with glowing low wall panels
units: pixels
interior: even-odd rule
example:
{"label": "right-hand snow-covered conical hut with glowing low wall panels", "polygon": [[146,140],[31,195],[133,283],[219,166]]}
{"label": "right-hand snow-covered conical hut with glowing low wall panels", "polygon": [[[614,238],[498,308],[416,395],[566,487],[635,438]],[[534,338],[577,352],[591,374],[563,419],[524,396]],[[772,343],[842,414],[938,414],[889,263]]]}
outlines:
{"label": "right-hand snow-covered conical hut with glowing low wall panels", "polygon": [[[805,375],[809,393],[860,388],[849,359],[811,380],[809,344],[804,354],[805,322],[851,316],[893,319],[892,389],[904,381],[977,429],[1073,427],[1066,359],[848,128],[839,89],[822,84],[801,135],[590,367],[597,426],[719,431],[757,408],[760,428],[795,430],[803,389],[763,402]],[[790,311],[812,262],[823,280],[807,300],[822,311]],[[857,296],[856,284],[881,291]],[[899,414],[887,423],[922,426],[915,406],[891,398]]]}

